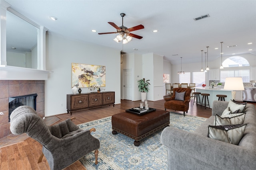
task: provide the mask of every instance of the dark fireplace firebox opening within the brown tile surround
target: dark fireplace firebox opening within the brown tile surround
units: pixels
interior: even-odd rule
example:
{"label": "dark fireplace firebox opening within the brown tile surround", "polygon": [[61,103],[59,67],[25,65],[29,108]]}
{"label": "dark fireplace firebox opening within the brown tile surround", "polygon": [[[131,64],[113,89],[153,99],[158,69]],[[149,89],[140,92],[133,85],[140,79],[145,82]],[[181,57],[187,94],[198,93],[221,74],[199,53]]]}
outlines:
{"label": "dark fireplace firebox opening within the brown tile surround", "polygon": [[19,106],[30,106],[36,110],[36,96],[37,94],[29,94],[26,96],[16,96],[9,98],[9,119],[10,122],[10,115],[14,109]]}

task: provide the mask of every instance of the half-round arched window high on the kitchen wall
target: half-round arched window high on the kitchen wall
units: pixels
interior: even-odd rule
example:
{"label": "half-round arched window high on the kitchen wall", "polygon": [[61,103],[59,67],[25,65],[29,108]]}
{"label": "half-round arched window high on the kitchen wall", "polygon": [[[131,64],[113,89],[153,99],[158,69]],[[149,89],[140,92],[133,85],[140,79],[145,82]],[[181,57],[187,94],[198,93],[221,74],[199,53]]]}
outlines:
{"label": "half-round arched window high on the kitchen wall", "polygon": [[250,66],[249,62],[240,56],[229,57],[222,63],[223,67],[241,67],[241,66]]}

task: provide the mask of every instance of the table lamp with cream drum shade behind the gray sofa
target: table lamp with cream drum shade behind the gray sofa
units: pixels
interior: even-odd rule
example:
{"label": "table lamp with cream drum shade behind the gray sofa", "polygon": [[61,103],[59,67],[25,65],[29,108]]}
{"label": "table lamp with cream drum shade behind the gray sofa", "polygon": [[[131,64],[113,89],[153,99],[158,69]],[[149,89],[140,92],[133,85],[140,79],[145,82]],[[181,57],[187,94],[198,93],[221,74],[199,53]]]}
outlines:
{"label": "table lamp with cream drum shade behind the gray sofa", "polygon": [[231,92],[233,100],[236,96],[236,91],[234,90],[244,90],[242,77],[227,77],[225,80],[224,90],[233,90]]}

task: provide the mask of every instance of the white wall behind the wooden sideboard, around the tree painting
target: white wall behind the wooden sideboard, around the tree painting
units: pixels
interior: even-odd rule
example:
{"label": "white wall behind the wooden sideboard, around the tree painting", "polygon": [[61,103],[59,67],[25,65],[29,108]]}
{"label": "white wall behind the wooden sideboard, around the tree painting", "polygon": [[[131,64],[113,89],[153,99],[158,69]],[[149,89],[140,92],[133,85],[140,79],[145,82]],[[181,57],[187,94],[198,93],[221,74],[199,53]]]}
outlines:
{"label": "white wall behind the wooden sideboard, around the tree painting", "polygon": [[[66,94],[72,94],[71,63],[106,66],[106,90],[115,92],[120,104],[120,51],[46,34],[45,116],[66,113]],[[82,93],[88,88],[82,88]]]}

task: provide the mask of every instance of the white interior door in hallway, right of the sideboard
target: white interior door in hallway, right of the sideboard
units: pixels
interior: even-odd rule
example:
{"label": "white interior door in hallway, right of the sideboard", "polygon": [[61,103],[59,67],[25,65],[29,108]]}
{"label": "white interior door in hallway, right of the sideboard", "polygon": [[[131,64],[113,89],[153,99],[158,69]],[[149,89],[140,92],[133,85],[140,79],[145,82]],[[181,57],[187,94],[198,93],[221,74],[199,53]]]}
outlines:
{"label": "white interior door in hallway, right of the sideboard", "polygon": [[132,100],[132,69],[124,69],[123,78],[123,99]]}

